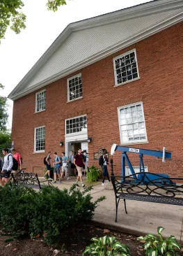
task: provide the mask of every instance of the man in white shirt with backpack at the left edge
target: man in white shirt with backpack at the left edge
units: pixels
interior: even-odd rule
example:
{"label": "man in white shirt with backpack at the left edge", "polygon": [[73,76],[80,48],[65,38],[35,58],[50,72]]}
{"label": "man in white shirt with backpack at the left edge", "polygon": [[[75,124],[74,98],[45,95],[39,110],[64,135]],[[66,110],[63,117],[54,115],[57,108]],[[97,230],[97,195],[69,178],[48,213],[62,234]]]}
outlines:
{"label": "man in white shirt with backpack at the left edge", "polygon": [[3,161],[3,168],[2,168],[2,185],[8,183],[10,178],[10,173],[13,167],[13,155],[8,153],[8,148],[3,149],[4,161]]}

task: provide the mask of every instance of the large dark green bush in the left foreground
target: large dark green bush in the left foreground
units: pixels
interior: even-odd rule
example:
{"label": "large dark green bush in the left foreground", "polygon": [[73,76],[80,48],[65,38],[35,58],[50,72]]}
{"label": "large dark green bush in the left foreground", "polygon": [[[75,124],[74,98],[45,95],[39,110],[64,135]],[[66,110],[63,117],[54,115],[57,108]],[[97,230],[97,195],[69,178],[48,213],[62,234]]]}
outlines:
{"label": "large dark green bush in the left foreground", "polygon": [[80,222],[91,220],[97,203],[92,197],[73,185],[70,190],[57,187],[42,187],[41,192],[22,187],[6,185],[0,187],[0,224],[3,231],[16,234],[26,232],[34,236],[44,236],[47,244],[56,243],[66,229]]}

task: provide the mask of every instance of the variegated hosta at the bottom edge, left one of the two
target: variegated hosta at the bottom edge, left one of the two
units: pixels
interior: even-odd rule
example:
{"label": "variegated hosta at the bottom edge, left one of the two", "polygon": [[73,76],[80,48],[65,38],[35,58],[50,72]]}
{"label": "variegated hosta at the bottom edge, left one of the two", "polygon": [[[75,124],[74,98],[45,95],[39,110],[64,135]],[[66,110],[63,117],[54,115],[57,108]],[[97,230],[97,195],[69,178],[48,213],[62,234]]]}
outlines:
{"label": "variegated hosta at the bottom edge, left one of the two", "polygon": [[90,246],[87,246],[83,255],[96,256],[130,256],[129,247],[117,241],[114,236],[93,238]]}

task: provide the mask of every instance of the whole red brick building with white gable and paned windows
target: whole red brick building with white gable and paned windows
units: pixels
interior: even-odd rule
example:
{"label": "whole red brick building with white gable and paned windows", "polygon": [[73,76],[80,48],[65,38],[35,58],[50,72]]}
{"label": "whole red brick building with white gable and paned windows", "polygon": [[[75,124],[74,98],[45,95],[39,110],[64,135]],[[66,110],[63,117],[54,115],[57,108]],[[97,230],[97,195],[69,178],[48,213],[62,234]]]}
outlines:
{"label": "whole red brick building with white gable and paned windows", "polygon": [[158,0],[69,24],[9,95],[24,167],[42,175],[49,150],[79,147],[97,165],[116,143],[165,146],[172,160],[144,157],[147,170],[182,176],[182,13],[182,1]]}

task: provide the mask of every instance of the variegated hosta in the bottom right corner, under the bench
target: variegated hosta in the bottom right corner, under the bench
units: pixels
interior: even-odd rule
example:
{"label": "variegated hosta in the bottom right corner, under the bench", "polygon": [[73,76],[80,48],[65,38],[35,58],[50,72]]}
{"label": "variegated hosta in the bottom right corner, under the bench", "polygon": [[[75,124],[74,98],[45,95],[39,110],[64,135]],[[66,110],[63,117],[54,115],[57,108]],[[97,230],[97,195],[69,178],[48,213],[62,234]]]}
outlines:
{"label": "variegated hosta in the bottom right corner, under the bench", "polygon": [[169,236],[167,239],[161,235],[164,227],[157,228],[157,236],[147,234],[139,236],[138,241],[145,241],[143,249],[147,256],[178,256],[181,250],[180,244],[175,239],[175,236]]}

